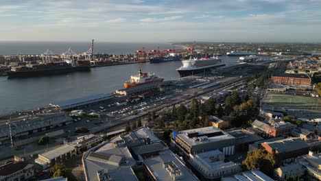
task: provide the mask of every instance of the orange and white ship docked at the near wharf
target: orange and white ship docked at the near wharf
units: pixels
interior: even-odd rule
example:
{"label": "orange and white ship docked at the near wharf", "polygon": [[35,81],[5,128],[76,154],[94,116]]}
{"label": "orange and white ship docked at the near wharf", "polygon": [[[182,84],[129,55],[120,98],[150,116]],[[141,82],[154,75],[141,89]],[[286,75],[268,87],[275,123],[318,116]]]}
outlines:
{"label": "orange and white ship docked at the near wharf", "polygon": [[130,76],[130,81],[123,83],[125,88],[130,88],[133,86],[141,86],[143,84],[150,84],[153,82],[163,82],[164,78],[158,77],[152,73],[141,73],[141,69],[139,69],[138,75]]}

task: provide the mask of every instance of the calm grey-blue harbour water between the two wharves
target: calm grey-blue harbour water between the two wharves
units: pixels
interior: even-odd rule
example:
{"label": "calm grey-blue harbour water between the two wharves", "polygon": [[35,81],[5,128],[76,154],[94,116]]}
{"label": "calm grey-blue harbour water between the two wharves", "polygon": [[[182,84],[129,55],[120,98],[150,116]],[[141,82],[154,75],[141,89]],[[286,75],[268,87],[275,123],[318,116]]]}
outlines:
{"label": "calm grey-blue harbour water between the two wharves", "polygon": [[[169,48],[170,45],[163,44],[162,47]],[[133,47],[127,47],[127,49],[130,52],[134,51]],[[37,52],[34,51],[32,53]],[[119,53],[121,52],[119,51]],[[227,56],[219,58],[227,64],[234,64],[238,59],[237,57]],[[181,64],[180,61],[158,64],[146,62],[97,67],[89,72],[75,72],[47,77],[19,79],[0,77],[0,115],[46,106],[56,101],[75,99],[98,93],[112,93],[117,89],[123,88],[123,82],[129,80],[130,75],[138,73],[139,69],[142,69],[143,72],[155,73],[160,77],[164,77],[165,80],[175,80],[179,78],[176,69]]]}

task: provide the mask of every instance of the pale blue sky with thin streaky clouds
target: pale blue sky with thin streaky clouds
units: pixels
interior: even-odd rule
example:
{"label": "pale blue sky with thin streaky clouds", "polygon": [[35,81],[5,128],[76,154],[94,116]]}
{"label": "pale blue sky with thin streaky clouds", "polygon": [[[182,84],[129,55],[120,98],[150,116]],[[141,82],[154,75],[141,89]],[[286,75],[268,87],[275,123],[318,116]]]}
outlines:
{"label": "pale blue sky with thin streaky clouds", "polygon": [[0,0],[1,41],[321,43],[320,0]]}

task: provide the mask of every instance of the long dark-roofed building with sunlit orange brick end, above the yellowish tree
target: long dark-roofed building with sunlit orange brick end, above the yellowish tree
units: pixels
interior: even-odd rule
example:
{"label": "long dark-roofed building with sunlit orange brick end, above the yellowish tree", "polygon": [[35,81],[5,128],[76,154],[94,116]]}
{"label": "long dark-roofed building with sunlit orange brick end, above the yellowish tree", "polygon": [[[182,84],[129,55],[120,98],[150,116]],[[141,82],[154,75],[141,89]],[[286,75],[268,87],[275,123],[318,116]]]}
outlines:
{"label": "long dark-roofed building with sunlit orange brick end, above the yellowish tree", "polygon": [[278,154],[283,162],[292,162],[296,157],[309,153],[309,145],[300,138],[261,143],[261,148],[270,154]]}

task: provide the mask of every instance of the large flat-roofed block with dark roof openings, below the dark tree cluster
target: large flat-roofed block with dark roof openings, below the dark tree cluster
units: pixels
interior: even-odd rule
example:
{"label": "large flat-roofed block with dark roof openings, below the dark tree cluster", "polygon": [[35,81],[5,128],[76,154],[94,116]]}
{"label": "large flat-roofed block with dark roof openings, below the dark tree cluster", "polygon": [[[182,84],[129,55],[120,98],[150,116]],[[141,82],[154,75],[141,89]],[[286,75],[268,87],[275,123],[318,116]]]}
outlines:
{"label": "large flat-roofed block with dark roof openings, below the dark tree cluster", "polygon": [[235,137],[213,126],[184,130],[176,134],[175,143],[187,156],[213,149],[226,155],[235,152]]}

